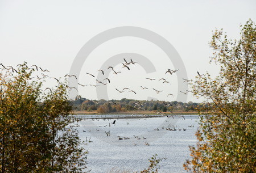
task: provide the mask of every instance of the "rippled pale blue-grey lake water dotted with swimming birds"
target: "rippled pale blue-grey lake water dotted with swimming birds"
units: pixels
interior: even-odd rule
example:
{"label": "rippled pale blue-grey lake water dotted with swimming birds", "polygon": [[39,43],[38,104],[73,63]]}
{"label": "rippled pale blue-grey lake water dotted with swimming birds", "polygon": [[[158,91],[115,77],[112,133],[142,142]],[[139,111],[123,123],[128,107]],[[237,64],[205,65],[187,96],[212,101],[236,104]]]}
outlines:
{"label": "rippled pale blue-grey lake water dotted with swimming birds", "polygon": [[[185,172],[183,163],[190,158],[188,146],[196,144],[199,116],[123,119],[120,117],[131,115],[101,115],[102,119],[94,119],[96,116],[80,115],[83,120],[76,127],[83,141],[92,141],[84,146],[89,151],[87,166],[91,172],[108,172],[112,168],[141,171],[155,154],[166,158],[159,163],[159,172]],[[169,128],[176,130],[166,130]],[[127,139],[119,140],[118,136]]]}

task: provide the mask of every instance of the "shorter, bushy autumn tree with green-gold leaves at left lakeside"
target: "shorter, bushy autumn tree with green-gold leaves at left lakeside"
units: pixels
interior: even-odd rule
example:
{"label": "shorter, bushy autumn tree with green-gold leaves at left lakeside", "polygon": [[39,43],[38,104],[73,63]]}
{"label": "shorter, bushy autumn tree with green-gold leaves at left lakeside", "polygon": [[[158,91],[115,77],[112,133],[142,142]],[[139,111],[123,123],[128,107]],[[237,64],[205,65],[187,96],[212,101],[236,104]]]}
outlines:
{"label": "shorter, bushy autumn tree with green-gold leaves at left lakeside", "polygon": [[67,83],[43,90],[48,76],[37,77],[36,68],[0,71],[0,171],[83,172],[86,151],[69,128]]}

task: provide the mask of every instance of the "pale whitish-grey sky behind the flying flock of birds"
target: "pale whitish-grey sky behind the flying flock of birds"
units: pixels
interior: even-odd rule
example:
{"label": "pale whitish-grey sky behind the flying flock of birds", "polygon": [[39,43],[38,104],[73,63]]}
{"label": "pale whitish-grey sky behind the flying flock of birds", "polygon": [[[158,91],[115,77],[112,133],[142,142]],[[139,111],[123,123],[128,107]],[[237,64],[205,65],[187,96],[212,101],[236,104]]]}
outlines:
{"label": "pale whitish-grey sky behind the flying flock of birds", "polygon": [[[256,21],[256,1],[0,1],[0,57],[5,65],[26,61],[50,70],[54,77],[63,77],[71,71],[80,49],[94,36],[108,29],[131,26],[148,29],[166,39],[179,53],[188,79],[195,77],[197,71],[217,75],[218,67],[209,65],[212,31],[224,28],[229,37],[238,38],[240,24],[249,18]],[[97,45],[82,65],[79,83],[96,85],[95,79],[85,73],[97,77],[100,75],[97,70],[110,57],[121,53],[146,57],[156,71],[147,74],[142,59],[124,57],[141,64],[131,65],[130,71],[122,69],[121,64],[115,66],[122,73],[110,73],[111,83],[106,89],[109,99],[176,100],[181,88],[177,86],[177,76],[164,74],[167,68],[175,69],[175,65],[157,45],[134,36]],[[160,78],[170,83],[161,83]],[[142,90],[141,86],[148,90]],[[119,94],[115,90],[123,87],[137,94]],[[163,92],[156,94],[152,88]],[[169,93],[174,97],[167,98]],[[97,94],[92,86],[79,87],[79,94],[88,99],[105,98],[105,94]],[[188,94],[186,101],[191,100],[201,101]]]}

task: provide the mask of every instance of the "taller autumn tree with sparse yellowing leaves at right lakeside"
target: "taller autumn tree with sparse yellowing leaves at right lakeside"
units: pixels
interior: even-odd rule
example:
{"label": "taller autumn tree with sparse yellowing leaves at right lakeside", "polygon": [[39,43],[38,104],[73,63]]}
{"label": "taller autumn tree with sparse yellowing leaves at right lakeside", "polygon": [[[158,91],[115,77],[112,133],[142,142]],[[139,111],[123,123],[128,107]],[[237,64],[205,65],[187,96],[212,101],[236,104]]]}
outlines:
{"label": "taller autumn tree with sparse yellowing leaves at right lakeside", "polygon": [[[230,40],[216,30],[210,47],[212,61],[220,65],[218,77],[199,74],[193,94],[211,100],[201,116],[191,146],[192,159],[184,164],[191,172],[256,172],[256,26],[241,26],[240,40]],[[203,110],[200,110],[203,111]]]}

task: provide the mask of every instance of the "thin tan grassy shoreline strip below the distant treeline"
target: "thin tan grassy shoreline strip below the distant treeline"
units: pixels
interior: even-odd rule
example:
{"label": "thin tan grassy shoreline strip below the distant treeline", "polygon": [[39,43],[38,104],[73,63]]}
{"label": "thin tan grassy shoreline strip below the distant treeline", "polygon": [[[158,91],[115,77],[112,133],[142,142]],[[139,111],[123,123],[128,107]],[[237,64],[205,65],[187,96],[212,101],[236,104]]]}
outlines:
{"label": "thin tan grassy shoreline strip below the distant treeline", "polygon": [[[98,113],[97,111],[73,111],[71,112],[73,115],[132,115],[135,113],[136,115],[156,115],[156,111],[126,111],[126,112],[110,112],[110,113]],[[171,112],[162,112],[166,115],[198,115],[199,112],[184,112],[184,111],[174,111]],[[161,114],[159,114],[161,115]]]}

